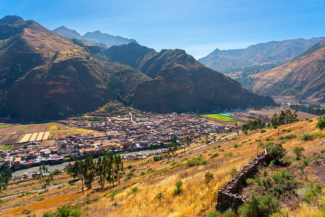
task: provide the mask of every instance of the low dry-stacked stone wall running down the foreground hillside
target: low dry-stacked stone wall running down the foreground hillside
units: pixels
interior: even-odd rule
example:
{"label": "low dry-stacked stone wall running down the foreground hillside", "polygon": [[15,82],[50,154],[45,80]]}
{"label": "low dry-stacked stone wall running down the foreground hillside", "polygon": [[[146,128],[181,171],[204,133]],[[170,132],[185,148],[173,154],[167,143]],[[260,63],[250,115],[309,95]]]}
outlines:
{"label": "low dry-stacked stone wall running down the foreground hillside", "polygon": [[[272,144],[271,146],[280,145]],[[257,166],[261,163],[268,163],[271,157],[266,150],[251,160],[246,166],[234,175],[219,191],[217,195],[216,209],[227,210],[232,204],[241,205],[246,199],[245,196],[238,194],[242,185],[246,183],[246,178],[252,177],[257,170]]]}

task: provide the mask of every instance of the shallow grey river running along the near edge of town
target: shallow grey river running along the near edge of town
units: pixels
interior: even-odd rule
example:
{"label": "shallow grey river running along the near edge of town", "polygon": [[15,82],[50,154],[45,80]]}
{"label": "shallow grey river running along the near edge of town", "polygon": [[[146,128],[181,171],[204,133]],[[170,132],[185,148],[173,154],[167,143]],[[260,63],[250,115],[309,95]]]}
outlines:
{"label": "shallow grey river running along the near edge of town", "polygon": [[[154,154],[156,152],[160,152],[162,149],[152,149],[152,150],[143,150],[143,151],[136,151],[136,152],[128,152],[128,153],[123,153],[120,154],[121,156],[128,156],[128,155],[133,155],[133,154]],[[97,158],[95,158],[95,160],[97,160]],[[73,162],[73,161],[71,161]],[[54,171],[54,170],[63,170],[65,168],[66,165],[68,165],[71,162],[64,162],[61,164],[56,164],[56,165],[45,165],[48,168],[48,171]],[[28,169],[23,169],[23,170],[17,170],[15,172],[12,173],[12,177],[19,177],[22,176],[24,174],[24,172],[28,172],[28,175],[32,175],[32,172],[36,172],[38,171],[39,166],[37,167],[31,167]]]}

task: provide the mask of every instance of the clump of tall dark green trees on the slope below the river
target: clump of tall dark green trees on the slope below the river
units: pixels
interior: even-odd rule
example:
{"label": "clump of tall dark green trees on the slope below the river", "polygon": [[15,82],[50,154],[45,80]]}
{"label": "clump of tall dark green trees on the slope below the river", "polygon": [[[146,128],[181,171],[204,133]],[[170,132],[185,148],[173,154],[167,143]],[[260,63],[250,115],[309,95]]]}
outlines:
{"label": "clump of tall dark green trees on the slope below the river", "polygon": [[98,176],[98,183],[101,188],[105,187],[105,181],[113,184],[113,186],[114,182],[120,183],[123,169],[124,167],[121,156],[114,155],[113,152],[109,152],[103,157],[99,156],[97,162],[94,161],[92,156],[88,156],[85,161],[76,160],[74,165],[69,163],[66,166],[69,175],[81,180],[83,193],[84,183],[85,186],[90,189],[96,176]]}

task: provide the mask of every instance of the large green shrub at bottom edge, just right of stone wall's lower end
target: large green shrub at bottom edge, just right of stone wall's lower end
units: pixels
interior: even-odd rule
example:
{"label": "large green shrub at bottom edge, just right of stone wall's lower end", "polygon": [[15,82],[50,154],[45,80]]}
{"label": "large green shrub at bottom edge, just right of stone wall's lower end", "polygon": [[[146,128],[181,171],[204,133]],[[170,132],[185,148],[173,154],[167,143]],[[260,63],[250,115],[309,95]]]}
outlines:
{"label": "large green shrub at bottom edge, just right of stone wall's lower end", "polygon": [[269,217],[270,214],[278,212],[281,208],[279,201],[268,196],[252,197],[244,202],[238,209],[239,217]]}

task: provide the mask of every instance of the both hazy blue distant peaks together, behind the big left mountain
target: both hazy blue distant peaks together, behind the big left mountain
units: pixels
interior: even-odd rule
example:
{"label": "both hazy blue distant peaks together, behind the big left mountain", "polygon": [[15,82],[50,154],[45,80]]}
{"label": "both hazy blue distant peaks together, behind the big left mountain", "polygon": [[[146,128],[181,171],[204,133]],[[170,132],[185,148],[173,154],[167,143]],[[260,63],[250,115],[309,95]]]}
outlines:
{"label": "both hazy blue distant peaks together, behind the big left mountain", "polygon": [[69,29],[65,26],[60,26],[52,32],[58,33],[59,35],[62,35],[67,38],[76,38],[82,41],[86,41],[98,46],[113,46],[113,45],[122,45],[122,44],[128,44],[131,42],[136,42],[134,39],[128,39],[123,38],[121,36],[114,36],[106,33],[101,33],[99,30],[95,32],[87,32],[84,35],[80,35],[77,31]]}

